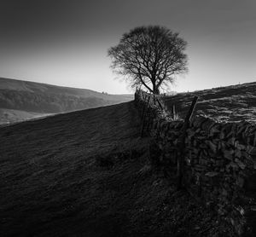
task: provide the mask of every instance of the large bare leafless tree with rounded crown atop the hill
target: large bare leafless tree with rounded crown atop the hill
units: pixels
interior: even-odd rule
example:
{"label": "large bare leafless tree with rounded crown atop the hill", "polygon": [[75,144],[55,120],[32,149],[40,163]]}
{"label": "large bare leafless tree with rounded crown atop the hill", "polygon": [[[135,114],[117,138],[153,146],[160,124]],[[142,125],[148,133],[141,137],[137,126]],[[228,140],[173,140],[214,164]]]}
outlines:
{"label": "large bare leafless tree with rounded crown atop the hill", "polygon": [[174,76],[187,72],[187,43],[163,26],[141,26],[125,33],[117,46],[108,49],[112,68],[131,86],[143,86],[154,94],[172,84]]}

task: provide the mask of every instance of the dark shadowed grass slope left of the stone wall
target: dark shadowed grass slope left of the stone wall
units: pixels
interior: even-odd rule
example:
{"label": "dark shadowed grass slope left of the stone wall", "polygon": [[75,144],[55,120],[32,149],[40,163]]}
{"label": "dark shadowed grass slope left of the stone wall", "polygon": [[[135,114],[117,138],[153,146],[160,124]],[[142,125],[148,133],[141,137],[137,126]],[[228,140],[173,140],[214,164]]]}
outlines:
{"label": "dark shadowed grass slope left of the stone wall", "polygon": [[234,236],[148,165],[133,102],[0,129],[0,236]]}

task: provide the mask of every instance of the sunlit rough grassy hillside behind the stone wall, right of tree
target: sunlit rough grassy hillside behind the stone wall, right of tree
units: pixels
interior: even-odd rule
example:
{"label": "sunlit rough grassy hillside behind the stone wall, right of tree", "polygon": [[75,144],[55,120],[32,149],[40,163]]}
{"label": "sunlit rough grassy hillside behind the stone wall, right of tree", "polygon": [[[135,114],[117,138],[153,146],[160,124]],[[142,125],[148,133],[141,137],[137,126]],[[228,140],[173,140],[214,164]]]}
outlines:
{"label": "sunlit rough grassy hillside behind the stone wall, right of tree", "polygon": [[166,96],[163,100],[169,109],[174,104],[177,113],[183,118],[195,95],[199,96],[195,107],[197,114],[204,114],[220,121],[256,122],[256,82],[180,93]]}

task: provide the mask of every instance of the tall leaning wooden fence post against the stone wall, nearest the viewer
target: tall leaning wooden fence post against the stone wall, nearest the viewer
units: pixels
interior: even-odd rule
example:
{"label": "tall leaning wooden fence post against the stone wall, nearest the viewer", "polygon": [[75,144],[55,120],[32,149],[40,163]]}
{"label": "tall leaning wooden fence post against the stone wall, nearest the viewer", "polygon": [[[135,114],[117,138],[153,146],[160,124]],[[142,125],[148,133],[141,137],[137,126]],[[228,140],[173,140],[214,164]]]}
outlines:
{"label": "tall leaning wooden fence post against the stone wall, nearest the viewer", "polygon": [[183,128],[181,130],[181,136],[179,136],[178,142],[177,142],[177,146],[179,150],[179,152],[177,153],[177,190],[180,190],[182,188],[186,130],[189,128],[189,122],[190,122],[191,116],[194,113],[197,99],[198,97],[195,96],[192,101],[192,104],[189,108],[189,112],[187,113],[187,116],[184,120]]}

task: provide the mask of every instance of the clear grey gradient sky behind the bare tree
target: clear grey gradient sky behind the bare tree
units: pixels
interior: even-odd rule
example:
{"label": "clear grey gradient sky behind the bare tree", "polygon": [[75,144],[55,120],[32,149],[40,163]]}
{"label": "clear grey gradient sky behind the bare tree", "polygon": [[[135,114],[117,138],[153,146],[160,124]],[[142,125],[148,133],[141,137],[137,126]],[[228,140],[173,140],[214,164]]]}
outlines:
{"label": "clear grey gradient sky behind the bare tree", "polygon": [[0,0],[0,78],[131,93],[108,49],[136,26],[188,42],[189,72],[169,90],[256,81],[255,0]]}

